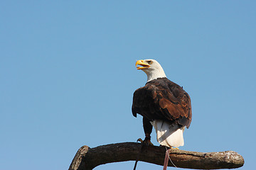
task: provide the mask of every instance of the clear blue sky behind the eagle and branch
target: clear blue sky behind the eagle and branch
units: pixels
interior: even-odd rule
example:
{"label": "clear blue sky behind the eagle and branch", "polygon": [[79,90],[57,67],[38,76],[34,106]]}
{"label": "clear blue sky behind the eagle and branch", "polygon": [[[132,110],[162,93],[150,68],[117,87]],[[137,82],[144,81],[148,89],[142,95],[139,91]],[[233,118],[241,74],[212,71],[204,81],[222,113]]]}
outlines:
{"label": "clear blue sky behind the eagle and branch", "polygon": [[[255,1],[1,1],[0,169],[68,169],[82,145],[135,142],[139,59],[192,99],[186,149],[255,169]],[[156,142],[155,132],[152,142]],[[134,162],[98,166],[132,169]],[[162,169],[139,162],[137,169]],[[172,168],[170,168],[172,169]]]}

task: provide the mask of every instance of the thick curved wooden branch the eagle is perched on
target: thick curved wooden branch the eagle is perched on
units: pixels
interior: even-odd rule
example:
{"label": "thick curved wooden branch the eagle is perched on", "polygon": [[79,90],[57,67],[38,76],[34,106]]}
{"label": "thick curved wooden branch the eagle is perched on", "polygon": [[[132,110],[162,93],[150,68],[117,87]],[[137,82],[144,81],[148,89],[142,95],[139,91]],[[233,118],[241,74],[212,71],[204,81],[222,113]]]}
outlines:
{"label": "thick curved wooden branch the eagle is perched on", "polygon": [[[91,170],[101,164],[112,162],[139,161],[163,165],[165,147],[143,147],[135,142],[124,142],[90,148],[82,146],[70,164],[69,170]],[[225,152],[191,152],[171,149],[171,161],[177,167],[186,169],[235,169],[244,164],[240,154],[233,151]],[[173,166],[169,162],[169,166]],[[132,169],[133,167],[131,167]]]}

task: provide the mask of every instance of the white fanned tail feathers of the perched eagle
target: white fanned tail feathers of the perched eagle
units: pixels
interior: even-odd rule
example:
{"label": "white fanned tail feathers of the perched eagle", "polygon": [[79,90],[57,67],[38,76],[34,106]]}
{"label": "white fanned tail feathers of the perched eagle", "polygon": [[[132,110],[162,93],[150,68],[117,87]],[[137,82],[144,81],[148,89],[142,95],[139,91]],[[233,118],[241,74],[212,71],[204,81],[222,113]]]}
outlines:
{"label": "white fanned tail feathers of the perched eagle", "polygon": [[154,120],[151,122],[156,130],[156,139],[160,145],[166,147],[180,147],[184,145],[183,131],[185,126],[171,124],[164,120]]}

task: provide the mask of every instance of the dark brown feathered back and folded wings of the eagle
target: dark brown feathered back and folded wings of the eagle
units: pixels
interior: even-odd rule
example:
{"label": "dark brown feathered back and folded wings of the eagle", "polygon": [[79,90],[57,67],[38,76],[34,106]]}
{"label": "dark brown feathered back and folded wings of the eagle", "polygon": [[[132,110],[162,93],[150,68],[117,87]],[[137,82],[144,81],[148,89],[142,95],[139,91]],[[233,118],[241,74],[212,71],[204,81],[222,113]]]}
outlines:
{"label": "dark brown feathered back and folded wings of the eagle", "polygon": [[169,79],[149,81],[134,92],[132,114],[148,120],[169,120],[188,128],[191,124],[191,99],[181,86]]}

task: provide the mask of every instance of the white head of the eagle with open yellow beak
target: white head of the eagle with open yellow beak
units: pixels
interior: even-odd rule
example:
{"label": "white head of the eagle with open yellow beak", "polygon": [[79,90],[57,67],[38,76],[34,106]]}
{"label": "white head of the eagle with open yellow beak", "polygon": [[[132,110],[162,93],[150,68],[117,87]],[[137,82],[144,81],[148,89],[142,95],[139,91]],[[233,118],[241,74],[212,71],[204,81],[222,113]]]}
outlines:
{"label": "white head of the eagle with open yellow beak", "polygon": [[[140,65],[142,67],[137,67],[137,65]],[[147,82],[157,78],[166,77],[166,74],[164,73],[164,69],[156,60],[153,60],[153,59],[138,60],[136,62],[136,67],[137,69],[142,69],[142,71],[146,73]]]}

